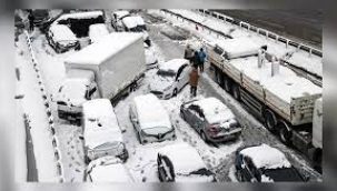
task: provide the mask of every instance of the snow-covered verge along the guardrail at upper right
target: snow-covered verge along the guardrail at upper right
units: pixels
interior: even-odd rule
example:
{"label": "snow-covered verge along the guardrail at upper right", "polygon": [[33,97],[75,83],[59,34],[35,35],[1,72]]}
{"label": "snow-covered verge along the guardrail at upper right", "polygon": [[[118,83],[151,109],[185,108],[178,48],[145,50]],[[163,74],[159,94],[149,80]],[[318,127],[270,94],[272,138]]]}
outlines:
{"label": "snow-covered verge along the guardrail at upper right", "polygon": [[[236,24],[230,24],[228,22],[224,22],[217,20],[212,17],[202,17],[201,14],[190,11],[190,10],[169,10],[171,12],[178,13],[185,18],[191,19],[204,26],[207,26],[214,30],[222,31],[224,33],[232,37],[232,38],[242,38],[249,37],[257,43],[267,43],[268,52],[275,54],[278,58],[283,58],[289,61],[291,64],[303,68],[311,73],[317,74],[318,77],[323,77],[323,58],[317,57],[315,54],[309,56],[309,52],[299,50],[295,47],[288,46],[285,43],[276,42],[275,40],[267,39],[266,37],[261,37],[256,32],[248,31],[247,29],[240,29],[240,27]],[[206,30],[198,29],[196,30],[196,26],[189,23],[188,21],[181,21],[181,19],[177,19],[177,17],[170,17],[169,13],[163,13],[160,10],[149,10],[149,13],[157,14],[160,17],[165,17],[170,20],[174,24],[180,26],[184,29],[189,29],[197,37],[205,39],[207,41],[215,41],[221,39],[216,33],[209,33]],[[287,56],[291,57],[287,57]]]}

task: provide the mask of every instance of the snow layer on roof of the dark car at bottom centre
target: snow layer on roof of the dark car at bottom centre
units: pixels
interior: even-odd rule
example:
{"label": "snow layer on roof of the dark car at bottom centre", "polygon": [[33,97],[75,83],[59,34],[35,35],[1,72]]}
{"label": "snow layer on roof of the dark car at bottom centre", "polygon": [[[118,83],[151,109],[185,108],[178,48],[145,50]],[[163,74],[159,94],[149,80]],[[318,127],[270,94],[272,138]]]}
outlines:
{"label": "snow layer on roof of the dark car at bottom centre", "polygon": [[185,142],[161,148],[158,153],[169,158],[176,174],[187,174],[199,169],[207,169],[198,151]]}

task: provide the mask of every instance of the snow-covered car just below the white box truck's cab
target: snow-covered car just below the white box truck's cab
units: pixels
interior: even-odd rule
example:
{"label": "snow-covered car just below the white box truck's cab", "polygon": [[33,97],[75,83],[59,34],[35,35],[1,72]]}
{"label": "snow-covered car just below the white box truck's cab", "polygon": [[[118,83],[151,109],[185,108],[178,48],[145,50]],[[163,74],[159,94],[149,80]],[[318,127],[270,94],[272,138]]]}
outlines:
{"label": "snow-covered car just below the white box truck's cab", "polygon": [[83,103],[86,162],[112,155],[126,161],[129,157],[110,100],[96,99]]}

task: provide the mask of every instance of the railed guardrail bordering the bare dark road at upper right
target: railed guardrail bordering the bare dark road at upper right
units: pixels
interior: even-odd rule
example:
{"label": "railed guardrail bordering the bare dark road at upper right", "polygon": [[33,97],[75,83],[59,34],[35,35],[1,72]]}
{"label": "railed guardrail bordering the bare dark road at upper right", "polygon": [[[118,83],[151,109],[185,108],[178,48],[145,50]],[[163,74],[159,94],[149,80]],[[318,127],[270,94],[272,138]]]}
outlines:
{"label": "railed guardrail bordering the bare dark road at upper right", "polygon": [[256,32],[258,34],[265,36],[266,38],[269,38],[271,40],[276,40],[276,41],[286,43],[286,47],[293,46],[297,49],[307,51],[309,53],[309,56],[316,54],[318,57],[323,57],[321,50],[318,50],[318,49],[313,48],[310,46],[304,44],[301,42],[296,42],[296,41],[290,40],[286,37],[283,37],[283,36],[278,36],[275,32],[268,31],[268,30],[262,29],[262,28],[258,28],[258,27],[252,26],[248,22],[245,22],[245,21],[241,21],[241,20],[238,20],[238,19],[234,19],[231,17],[225,16],[225,14],[219,13],[219,12],[210,11],[210,10],[207,10],[207,9],[197,9],[197,12],[202,13],[202,16],[214,17],[214,18],[220,20],[220,21],[224,21],[224,22],[236,24],[240,28],[246,28],[248,31],[252,31],[252,32]]}

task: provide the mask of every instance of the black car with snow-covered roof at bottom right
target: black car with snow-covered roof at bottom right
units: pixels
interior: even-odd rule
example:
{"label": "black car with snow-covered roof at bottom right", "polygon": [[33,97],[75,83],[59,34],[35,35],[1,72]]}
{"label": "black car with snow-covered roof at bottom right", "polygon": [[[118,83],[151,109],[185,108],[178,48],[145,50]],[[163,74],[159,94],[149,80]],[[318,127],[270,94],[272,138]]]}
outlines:
{"label": "black car with snow-covered roof at bottom right", "polygon": [[281,151],[267,144],[238,149],[235,167],[237,178],[242,182],[304,182],[308,180],[290,164]]}

